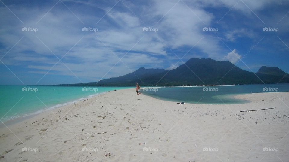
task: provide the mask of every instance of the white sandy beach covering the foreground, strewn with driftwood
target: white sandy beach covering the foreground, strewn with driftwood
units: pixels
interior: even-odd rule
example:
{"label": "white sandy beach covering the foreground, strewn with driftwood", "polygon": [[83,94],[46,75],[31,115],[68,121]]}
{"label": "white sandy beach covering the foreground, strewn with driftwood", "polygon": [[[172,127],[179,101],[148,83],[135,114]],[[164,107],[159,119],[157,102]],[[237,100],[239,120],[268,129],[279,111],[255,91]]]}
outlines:
{"label": "white sandy beach covering the foreground, strewn with driftwood", "polygon": [[179,105],[112,91],[0,128],[0,161],[289,161],[289,93],[236,97],[252,102]]}

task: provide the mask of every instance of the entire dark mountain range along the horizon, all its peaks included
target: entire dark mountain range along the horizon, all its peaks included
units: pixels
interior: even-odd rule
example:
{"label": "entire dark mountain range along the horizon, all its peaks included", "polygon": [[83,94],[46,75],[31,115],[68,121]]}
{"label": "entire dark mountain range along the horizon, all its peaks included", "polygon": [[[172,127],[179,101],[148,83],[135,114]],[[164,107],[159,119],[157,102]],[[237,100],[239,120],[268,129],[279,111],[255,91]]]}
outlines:
{"label": "entire dark mountain range along the horizon, all its peaks included", "polygon": [[216,61],[210,58],[191,58],[173,70],[138,70],[98,82],[64,84],[56,86],[178,86],[178,85],[233,85],[288,83],[288,74],[278,67],[262,66],[257,73],[242,70],[229,61]]}

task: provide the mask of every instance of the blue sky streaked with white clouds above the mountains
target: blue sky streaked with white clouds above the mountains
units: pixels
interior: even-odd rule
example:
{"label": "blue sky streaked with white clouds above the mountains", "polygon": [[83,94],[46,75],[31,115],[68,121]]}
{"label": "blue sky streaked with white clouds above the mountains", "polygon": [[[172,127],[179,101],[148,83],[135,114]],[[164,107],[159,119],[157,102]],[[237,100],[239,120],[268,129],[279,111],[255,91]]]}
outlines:
{"label": "blue sky streaked with white clouds above the mountains", "polygon": [[1,0],[0,7],[0,85],[96,82],[190,58],[289,72],[288,1]]}

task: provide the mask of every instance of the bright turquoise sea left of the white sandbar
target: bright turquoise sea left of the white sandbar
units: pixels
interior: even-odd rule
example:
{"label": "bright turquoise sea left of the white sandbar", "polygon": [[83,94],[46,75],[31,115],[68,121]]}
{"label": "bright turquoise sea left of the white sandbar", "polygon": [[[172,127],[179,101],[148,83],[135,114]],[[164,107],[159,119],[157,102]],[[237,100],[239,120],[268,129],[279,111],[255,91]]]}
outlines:
{"label": "bright turquoise sea left of the white sandbar", "polygon": [[[22,89],[23,88],[23,89]],[[87,98],[113,89],[135,87],[58,87],[0,85],[0,120],[40,113],[69,102]]]}

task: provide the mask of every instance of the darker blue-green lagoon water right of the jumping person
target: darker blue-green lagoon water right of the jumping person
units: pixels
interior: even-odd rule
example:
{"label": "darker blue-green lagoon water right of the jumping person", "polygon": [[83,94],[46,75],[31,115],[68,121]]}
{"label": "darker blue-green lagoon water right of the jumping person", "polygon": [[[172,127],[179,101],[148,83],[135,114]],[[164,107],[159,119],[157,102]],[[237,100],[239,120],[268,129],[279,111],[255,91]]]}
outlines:
{"label": "darker blue-green lagoon water right of the jumping person", "polygon": [[250,101],[235,95],[259,92],[289,92],[289,83],[200,87],[142,87],[142,93],[154,98],[199,104],[242,104]]}

